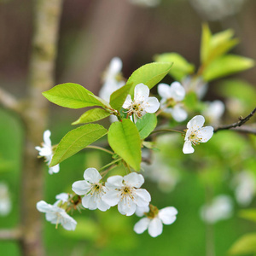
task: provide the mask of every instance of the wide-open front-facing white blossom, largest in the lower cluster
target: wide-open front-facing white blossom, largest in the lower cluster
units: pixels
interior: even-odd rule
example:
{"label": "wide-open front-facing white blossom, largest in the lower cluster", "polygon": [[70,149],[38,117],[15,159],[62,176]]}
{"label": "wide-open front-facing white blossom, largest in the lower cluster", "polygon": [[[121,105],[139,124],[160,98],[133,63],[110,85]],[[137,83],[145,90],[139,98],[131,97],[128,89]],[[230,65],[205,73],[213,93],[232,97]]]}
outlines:
{"label": "wide-open front-facing white blossom, largest in the lower cluster", "polygon": [[131,216],[137,207],[147,207],[151,196],[146,189],[139,189],[144,183],[144,177],[136,172],[131,172],[125,177],[116,175],[108,177],[105,183],[108,189],[102,200],[109,206],[118,205],[121,214]]}

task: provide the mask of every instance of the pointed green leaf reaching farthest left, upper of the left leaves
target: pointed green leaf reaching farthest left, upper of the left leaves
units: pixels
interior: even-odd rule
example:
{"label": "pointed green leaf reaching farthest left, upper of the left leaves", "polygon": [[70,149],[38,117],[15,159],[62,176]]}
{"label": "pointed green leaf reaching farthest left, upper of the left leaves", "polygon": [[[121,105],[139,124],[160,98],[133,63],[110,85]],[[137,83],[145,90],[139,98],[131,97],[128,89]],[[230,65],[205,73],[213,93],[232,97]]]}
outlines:
{"label": "pointed green leaf reaching farthest left, upper of the left leaves", "polygon": [[106,107],[90,90],[86,90],[79,84],[59,84],[50,90],[44,91],[43,95],[49,102],[65,108]]}

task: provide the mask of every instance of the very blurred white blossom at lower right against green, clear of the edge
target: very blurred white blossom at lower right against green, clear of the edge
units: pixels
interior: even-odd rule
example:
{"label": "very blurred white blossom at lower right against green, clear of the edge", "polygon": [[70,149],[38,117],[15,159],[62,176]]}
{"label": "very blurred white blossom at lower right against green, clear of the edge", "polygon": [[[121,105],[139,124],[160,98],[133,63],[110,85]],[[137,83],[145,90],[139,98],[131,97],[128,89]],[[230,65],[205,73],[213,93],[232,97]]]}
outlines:
{"label": "very blurred white blossom at lower right against green, clear of the edge", "polygon": [[210,204],[201,207],[202,220],[214,224],[221,219],[230,218],[233,212],[233,204],[230,196],[218,195]]}

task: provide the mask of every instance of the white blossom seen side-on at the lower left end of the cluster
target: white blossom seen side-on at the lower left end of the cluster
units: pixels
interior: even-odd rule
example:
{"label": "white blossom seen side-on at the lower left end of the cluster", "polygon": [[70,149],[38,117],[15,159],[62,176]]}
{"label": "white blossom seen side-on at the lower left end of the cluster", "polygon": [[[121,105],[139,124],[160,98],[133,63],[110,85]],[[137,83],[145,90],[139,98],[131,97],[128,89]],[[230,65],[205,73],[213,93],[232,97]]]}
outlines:
{"label": "white blossom seen side-on at the lower left end of the cluster", "polygon": [[37,209],[44,212],[45,218],[51,224],[61,224],[65,230],[75,230],[77,222],[70,217],[64,209],[54,205],[50,205],[45,201],[38,201]]}

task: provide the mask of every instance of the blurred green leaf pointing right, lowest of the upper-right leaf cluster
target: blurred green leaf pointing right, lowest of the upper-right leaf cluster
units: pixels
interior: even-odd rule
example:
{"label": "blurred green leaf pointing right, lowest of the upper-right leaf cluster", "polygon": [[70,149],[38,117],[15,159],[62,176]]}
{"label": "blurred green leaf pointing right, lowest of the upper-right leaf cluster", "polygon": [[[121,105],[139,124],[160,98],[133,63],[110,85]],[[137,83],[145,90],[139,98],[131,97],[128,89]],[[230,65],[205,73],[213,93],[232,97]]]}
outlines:
{"label": "blurred green leaf pointing right, lowest of the upper-right leaf cluster", "polygon": [[222,78],[254,66],[254,61],[239,55],[224,55],[212,61],[202,73],[205,81]]}

